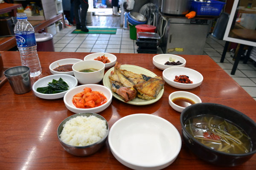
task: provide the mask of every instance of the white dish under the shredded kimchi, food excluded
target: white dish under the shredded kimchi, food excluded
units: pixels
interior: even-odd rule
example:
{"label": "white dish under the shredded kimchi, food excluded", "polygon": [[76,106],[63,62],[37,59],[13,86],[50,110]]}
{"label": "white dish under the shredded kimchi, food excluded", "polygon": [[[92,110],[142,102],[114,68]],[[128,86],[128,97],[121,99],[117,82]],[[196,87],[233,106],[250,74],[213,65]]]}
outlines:
{"label": "white dish under the shredded kimchi, food excluded", "polygon": [[105,55],[105,57],[108,57],[110,60],[109,63],[105,64],[105,68],[110,68],[113,67],[116,64],[116,56],[114,54],[110,53],[93,53],[93,54],[88,54],[87,56],[84,57],[84,60],[94,60],[97,57],[102,57]]}

